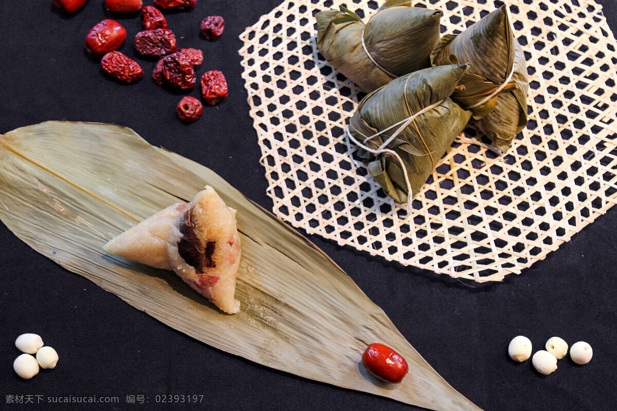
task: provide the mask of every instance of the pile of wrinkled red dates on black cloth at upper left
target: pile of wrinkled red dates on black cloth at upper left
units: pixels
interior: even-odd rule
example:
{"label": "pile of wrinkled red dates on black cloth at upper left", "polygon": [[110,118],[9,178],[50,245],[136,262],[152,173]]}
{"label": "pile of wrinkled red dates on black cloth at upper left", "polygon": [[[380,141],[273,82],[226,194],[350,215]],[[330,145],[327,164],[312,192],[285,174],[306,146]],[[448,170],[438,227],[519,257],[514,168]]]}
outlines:
{"label": "pile of wrinkled red dates on black cloth at upper left", "polygon": [[[81,9],[88,0],[52,0],[67,14]],[[114,14],[141,13],[144,31],[135,36],[135,51],[144,57],[160,57],[152,77],[157,84],[168,89],[191,90],[197,83],[195,69],[204,61],[204,53],[197,49],[178,49],[176,36],[167,28],[167,20],[154,6],[143,7],[142,0],[106,0],[107,10]],[[194,9],[197,0],[154,0],[162,10]],[[206,39],[216,39],[223,34],[225,20],[220,16],[208,16],[202,20],[199,30]],[[143,76],[138,62],[117,51],[126,40],[125,28],[107,18],[97,23],[86,35],[86,49],[93,55],[102,56],[101,68],[107,75],[122,83],[133,83]],[[201,97],[209,105],[226,99],[227,81],[221,71],[206,71],[201,77]],[[187,122],[197,120],[202,112],[201,102],[194,97],[184,97],[178,107],[178,116]]]}

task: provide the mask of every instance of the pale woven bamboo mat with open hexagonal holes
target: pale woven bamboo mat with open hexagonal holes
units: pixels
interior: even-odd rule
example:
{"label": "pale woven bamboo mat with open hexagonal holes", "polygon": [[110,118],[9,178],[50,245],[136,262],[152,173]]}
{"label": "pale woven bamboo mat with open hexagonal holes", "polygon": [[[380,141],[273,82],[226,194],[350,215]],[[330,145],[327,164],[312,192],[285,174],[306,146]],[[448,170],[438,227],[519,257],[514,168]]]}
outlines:
{"label": "pale woven bamboo mat with open hexagonal holes", "polygon": [[[343,134],[363,94],[318,53],[314,19],[340,4],[362,18],[378,8],[372,0],[284,1],[241,35],[276,216],[371,255],[484,282],[519,274],[615,205],[617,53],[601,6],[510,6],[530,76],[528,127],[503,157],[466,129],[407,214]],[[415,5],[442,11],[442,33],[460,33],[502,4]]]}

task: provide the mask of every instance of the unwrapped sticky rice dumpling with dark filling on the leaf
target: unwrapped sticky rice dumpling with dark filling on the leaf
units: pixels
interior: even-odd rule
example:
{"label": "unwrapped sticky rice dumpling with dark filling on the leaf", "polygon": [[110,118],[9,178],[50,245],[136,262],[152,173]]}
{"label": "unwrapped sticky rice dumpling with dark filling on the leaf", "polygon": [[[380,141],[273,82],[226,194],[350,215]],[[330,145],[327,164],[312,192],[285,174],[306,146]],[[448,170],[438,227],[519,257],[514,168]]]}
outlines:
{"label": "unwrapped sticky rice dumpling with dark filling on the leaf", "polygon": [[234,298],[240,263],[236,210],[212,187],[190,203],[177,203],[131,227],[105,251],[148,266],[173,270],[222,311],[238,312]]}

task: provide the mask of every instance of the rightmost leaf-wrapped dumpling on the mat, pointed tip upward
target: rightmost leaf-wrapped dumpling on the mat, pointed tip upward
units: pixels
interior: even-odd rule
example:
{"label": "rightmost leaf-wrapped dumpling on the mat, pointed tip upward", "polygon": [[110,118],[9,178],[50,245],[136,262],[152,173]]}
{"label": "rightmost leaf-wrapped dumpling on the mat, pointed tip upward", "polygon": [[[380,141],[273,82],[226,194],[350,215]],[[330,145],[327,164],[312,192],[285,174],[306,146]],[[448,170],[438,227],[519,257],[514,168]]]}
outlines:
{"label": "rightmost leaf-wrapped dumpling on the mat, pointed tip upward", "polygon": [[476,105],[497,91],[486,102],[472,107],[473,123],[502,152],[527,124],[529,79],[525,57],[514,36],[510,14],[505,6],[481,18],[460,35],[445,35],[431,54],[435,65],[470,63],[452,99],[462,107]]}

